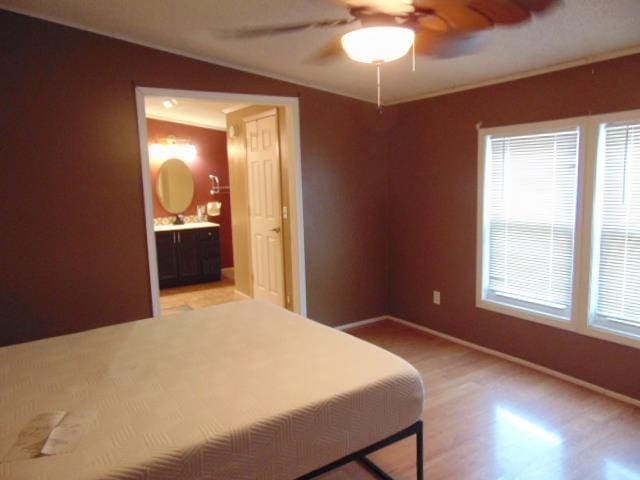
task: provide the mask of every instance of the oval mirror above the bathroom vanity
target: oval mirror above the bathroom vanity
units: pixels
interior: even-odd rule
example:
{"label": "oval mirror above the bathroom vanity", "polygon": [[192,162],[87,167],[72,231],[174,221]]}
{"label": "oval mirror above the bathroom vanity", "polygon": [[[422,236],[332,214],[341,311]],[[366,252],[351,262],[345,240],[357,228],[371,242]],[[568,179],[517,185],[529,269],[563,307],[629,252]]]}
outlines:
{"label": "oval mirror above the bathroom vanity", "polygon": [[169,213],[182,213],[193,200],[194,182],[191,170],[177,158],[164,162],[158,170],[156,194]]}

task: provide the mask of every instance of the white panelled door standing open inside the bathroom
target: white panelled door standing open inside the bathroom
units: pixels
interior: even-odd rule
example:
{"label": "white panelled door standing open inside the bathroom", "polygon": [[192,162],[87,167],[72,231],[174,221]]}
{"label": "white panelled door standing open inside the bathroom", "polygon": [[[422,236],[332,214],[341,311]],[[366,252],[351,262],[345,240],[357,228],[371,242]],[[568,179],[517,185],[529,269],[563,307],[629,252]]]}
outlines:
{"label": "white panelled door standing open inside the bathroom", "polygon": [[271,112],[245,126],[253,297],[284,306],[278,118]]}

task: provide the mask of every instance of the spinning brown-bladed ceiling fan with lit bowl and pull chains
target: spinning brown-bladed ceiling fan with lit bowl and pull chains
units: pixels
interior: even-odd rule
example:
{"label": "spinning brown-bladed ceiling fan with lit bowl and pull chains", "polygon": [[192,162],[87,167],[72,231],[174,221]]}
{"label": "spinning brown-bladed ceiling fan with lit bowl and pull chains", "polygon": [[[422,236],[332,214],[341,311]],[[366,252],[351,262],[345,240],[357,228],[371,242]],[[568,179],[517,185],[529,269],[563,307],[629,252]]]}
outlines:
{"label": "spinning brown-bladed ceiling fan with lit bowl and pull chains", "polygon": [[351,27],[320,49],[313,61],[344,53],[357,62],[376,65],[378,106],[380,66],[413,49],[416,55],[453,57],[473,48],[476,34],[496,25],[526,22],[562,0],[331,0],[349,16],[336,20],[219,32],[224,38],[256,38],[315,28]]}

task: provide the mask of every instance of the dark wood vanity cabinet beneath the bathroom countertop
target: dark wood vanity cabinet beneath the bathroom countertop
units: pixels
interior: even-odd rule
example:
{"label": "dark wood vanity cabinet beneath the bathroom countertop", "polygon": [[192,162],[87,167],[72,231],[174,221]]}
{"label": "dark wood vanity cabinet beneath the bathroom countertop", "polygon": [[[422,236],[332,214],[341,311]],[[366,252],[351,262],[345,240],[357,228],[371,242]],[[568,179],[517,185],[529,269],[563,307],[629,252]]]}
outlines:
{"label": "dark wood vanity cabinet beneath the bathroom countertop", "polygon": [[220,280],[217,227],[156,232],[160,288]]}

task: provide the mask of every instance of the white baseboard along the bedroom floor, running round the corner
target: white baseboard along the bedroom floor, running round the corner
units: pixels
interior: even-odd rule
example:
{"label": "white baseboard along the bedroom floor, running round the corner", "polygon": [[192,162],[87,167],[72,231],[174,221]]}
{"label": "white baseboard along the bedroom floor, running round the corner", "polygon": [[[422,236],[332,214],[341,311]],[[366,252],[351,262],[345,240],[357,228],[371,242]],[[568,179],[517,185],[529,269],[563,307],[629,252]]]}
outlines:
{"label": "white baseboard along the bedroom floor, running round the corner", "polygon": [[571,375],[567,375],[565,373],[558,372],[557,370],[552,370],[551,368],[543,367],[542,365],[538,365],[537,363],[529,362],[528,360],[523,360],[522,358],[514,357],[513,355],[509,355],[506,353],[499,352],[498,350],[493,350],[491,348],[483,347],[482,345],[478,345],[476,343],[467,342],[466,340],[462,340],[457,337],[453,337],[451,335],[447,335],[446,333],[438,332],[437,330],[433,330],[428,327],[424,327],[422,325],[418,325],[417,323],[409,322],[408,320],[403,320],[401,318],[393,317],[391,315],[385,315],[382,317],[370,318],[368,320],[362,320],[360,322],[348,323],[346,325],[340,325],[336,327],[339,330],[345,330],[353,327],[359,327],[362,325],[367,325],[370,323],[379,322],[380,320],[389,319],[397,323],[401,323],[402,325],[406,325],[407,327],[415,328],[416,330],[421,330],[423,332],[430,333],[431,335],[435,335],[436,337],[444,338],[445,340],[449,340],[450,342],[457,343],[459,345],[463,345],[468,348],[472,348],[473,350],[477,350],[479,352],[486,353],[488,355],[493,355],[494,357],[501,358],[503,360],[507,360],[512,363],[517,363],[518,365],[522,365],[524,367],[531,368],[533,370],[537,370],[538,372],[546,373],[547,375],[551,375],[552,377],[559,378],[560,380],[564,380],[569,383],[573,383],[574,385],[578,385],[580,387],[584,387],[588,390],[600,393],[610,398],[614,398],[616,400],[620,400],[621,402],[628,403],[630,405],[640,407],[640,400],[635,399],[633,397],[629,397],[627,395],[623,395],[622,393],[614,392],[613,390],[609,390],[607,388],[601,387],[599,385],[595,385],[593,383],[586,382],[584,380],[580,380],[579,378],[572,377]]}

